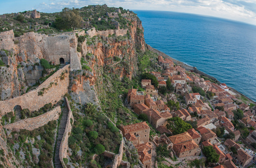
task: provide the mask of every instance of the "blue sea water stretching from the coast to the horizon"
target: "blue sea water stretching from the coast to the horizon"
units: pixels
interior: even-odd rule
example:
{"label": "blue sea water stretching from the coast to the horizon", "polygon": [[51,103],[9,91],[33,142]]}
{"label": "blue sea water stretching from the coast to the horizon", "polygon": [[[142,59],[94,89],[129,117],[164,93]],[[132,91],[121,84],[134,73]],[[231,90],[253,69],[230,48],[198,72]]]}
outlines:
{"label": "blue sea water stretching from the coast to the horizon", "polygon": [[134,12],[147,44],[256,101],[256,26],[188,13]]}

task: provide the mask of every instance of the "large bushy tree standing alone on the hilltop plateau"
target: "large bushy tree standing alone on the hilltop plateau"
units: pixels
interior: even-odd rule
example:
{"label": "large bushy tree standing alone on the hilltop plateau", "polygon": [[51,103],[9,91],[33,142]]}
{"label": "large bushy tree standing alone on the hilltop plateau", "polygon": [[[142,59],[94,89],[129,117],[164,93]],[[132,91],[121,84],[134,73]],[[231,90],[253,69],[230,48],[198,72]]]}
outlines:
{"label": "large bushy tree standing alone on the hilltop plateau", "polygon": [[75,8],[63,8],[60,15],[56,16],[54,24],[57,29],[73,29],[81,26],[82,17],[79,15],[79,11]]}

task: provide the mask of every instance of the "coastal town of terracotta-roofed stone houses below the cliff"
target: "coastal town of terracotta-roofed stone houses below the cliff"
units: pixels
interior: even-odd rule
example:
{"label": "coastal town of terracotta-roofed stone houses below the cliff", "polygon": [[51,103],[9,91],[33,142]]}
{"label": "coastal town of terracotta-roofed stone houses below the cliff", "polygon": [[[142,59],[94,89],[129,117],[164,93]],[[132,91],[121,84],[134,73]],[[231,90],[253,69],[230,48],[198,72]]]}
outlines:
{"label": "coastal town of terracotta-roofed stone houses below the cliff", "polygon": [[[150,79],[142,79],[141,88],[131,88],[127,94],[130,108],[139,118],[144,116],[145,122],[121,129],[135,145],[144,167],[187,167],[186,162],[194,159],[204,159],[216,168],[253,167],[255,105],[237,99],[225,83],[205,80],[173,64],[171,59],[159,56],[158,66],[162,72],[148,72]],[[152,79],[158,81],[158,87]],[[172,87],[173,92],[161,93],[162,87]],[[193,128],[178,133],[179,127],[185,127],[181,123]],[[156,129],[157,134],[152,136],[150,129]],[[154,153],[163,151],[156,148],[165,148],[168,155],[159,158]],[[214,161],[213,154],[208,155],[211,150],[217,155]]]}

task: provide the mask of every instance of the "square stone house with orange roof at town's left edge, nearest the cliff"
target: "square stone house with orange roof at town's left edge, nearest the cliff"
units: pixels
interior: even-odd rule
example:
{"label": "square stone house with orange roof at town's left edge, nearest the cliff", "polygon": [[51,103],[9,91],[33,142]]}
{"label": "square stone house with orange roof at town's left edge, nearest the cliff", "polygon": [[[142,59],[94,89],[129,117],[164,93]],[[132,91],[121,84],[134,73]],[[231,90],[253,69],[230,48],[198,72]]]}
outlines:
{"label": "square stone house with orange roof at town's left edge, nearest the cliff", "polygon": [[146,122],[121,127],[124,137],[135,146],[149,142],[150,127]]}

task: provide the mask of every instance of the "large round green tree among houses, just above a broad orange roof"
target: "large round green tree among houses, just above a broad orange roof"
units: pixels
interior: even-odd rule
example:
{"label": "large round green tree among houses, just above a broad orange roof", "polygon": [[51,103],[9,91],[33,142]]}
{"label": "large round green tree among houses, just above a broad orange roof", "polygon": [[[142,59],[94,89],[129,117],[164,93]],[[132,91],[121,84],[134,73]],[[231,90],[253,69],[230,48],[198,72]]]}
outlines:
{"label": "large round green tree among houses, just above a broad orange roof", "polygon": [[188,129],[192,128],[192,126],[190,124],[184,122],[184,120],[182,120],[181,118],[179,118],[177,116],[168,119],[166,127],[168,129],[170,129],[172,131],[172,133],[175,135],[184,133]]}

